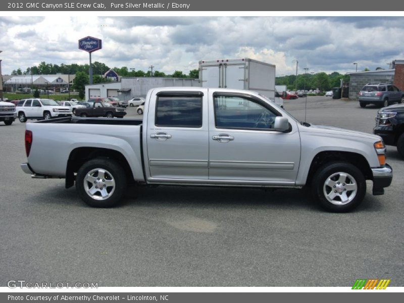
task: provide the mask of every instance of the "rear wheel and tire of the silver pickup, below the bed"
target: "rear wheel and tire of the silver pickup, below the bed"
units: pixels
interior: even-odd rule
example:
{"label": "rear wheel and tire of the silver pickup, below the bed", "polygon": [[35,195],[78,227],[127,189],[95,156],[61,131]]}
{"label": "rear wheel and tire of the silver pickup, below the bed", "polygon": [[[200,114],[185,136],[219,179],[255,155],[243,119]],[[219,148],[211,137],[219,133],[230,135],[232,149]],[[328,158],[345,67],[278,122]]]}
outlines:
{"label": "rear wheel and tire of the silver pickup, below the bed", "polygon": [[77,192],[91,207],[115,206],[125,194],[126,186],[124,169],[118,162],[108,158],[87,161],[80,167],[76,176]]}

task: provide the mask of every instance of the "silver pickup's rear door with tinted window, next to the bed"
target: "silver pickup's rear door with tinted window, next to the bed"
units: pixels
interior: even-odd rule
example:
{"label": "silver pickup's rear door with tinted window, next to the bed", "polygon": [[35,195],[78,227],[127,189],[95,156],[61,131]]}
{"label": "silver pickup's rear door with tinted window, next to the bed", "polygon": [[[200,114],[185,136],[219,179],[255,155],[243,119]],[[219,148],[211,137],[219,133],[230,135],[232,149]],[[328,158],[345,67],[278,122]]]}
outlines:
{"label": "silver pickup's rear door with tinted window, next to the bed", "polygon": [[150,181],[208,179],[206,90],[153,93],[145,114]]}

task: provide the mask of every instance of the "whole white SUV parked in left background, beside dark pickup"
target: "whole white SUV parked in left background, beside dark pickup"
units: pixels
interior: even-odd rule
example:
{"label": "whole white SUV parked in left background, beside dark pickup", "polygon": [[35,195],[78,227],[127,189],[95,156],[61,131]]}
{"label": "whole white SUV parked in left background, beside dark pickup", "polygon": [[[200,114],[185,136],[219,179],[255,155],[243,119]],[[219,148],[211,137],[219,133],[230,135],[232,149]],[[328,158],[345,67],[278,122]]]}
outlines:
{"label": "whole white SUV parked in left background, beside dark pickup", "polygon": [[27,119],[52,119],[58,117],[71,117],[70,108],[58,105],[52,99],[22,99],[17,104],[17,116],[20,122]]}

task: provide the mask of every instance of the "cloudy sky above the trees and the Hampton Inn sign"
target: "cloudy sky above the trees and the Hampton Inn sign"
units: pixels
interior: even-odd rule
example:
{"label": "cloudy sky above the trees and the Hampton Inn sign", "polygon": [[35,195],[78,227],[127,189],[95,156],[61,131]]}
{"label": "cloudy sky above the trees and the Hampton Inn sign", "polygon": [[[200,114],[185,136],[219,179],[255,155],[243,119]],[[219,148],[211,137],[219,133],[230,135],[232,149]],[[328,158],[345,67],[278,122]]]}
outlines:
{"label": "cloudy sky above the trees and the Hampton Inn sign", "polygon": [[404,59],[404,17],[0,17],[2,72],[38,65],[86,64],[78,39],[103,48],[92,61],[172,74],[198,61],[251,58],[276,65],[277,76],[342,74]]}

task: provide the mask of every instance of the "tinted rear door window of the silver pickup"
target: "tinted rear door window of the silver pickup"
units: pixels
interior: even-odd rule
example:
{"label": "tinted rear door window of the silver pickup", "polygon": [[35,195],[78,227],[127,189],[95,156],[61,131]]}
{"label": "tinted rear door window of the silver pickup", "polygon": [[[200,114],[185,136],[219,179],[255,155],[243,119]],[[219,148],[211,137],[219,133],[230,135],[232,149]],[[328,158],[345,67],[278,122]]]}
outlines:
{"label": "tinted rear door window of the silver pickup", "polygon": [[156,126],[201,127],[201,96],[158,96]]}

